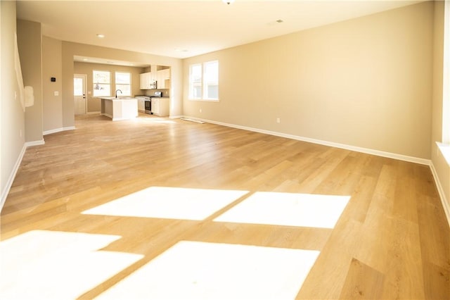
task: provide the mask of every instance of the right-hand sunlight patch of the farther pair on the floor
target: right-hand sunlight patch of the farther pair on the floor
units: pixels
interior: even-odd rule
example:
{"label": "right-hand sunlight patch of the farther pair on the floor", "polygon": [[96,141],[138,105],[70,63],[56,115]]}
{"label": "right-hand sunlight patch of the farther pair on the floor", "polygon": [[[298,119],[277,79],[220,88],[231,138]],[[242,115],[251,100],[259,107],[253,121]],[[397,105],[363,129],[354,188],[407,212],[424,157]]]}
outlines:
{"label": "right-hand sunlight patch of the farther pair on the floor", "polygon": [[333,228],[350,196],[256,192],[217,222]]}

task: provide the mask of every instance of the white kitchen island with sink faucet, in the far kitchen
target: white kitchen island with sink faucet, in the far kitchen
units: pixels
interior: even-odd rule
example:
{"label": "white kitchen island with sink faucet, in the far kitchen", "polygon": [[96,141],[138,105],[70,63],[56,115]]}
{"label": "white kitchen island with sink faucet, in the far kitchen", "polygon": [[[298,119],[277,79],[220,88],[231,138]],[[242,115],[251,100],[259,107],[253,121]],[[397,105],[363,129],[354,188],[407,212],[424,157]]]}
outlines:
{"label": "white kitchen island with sink faucet, in the far kitchen", "polygon": [[131,97],[102,97],[101,115],[113,121],[128,120],[138,116],[138,100]]}

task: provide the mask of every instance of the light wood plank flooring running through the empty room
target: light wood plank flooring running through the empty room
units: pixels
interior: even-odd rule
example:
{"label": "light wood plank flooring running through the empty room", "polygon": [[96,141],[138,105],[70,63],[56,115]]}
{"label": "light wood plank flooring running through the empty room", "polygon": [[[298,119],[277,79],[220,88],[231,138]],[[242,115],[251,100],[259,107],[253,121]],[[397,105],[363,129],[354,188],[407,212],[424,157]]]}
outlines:
{"label": "light wood plank flooring running through the empty room", "polygon": [[[297,299],[450,299],[450,230],[426,165],[150,115],[120,122],[86,115],[77,117],[75,125],[76,130],[46,135],[45,145],[32,146],[25,153],[1,211],[0,246],[4,246],[1,257],[4,267],[0,282],[14,275],[15,267],[8,267],[8,261],[23,263],[27,258],[30,262],[21,265],[20,280],[0,290],[0,298],[6,290],[29,288],[23,275],[28,266],[38,268],[34,270],[37,277],[33,285],[49,285],[44,280],[51,275],[44,275],[44,269],[39,268],[48,265],[56,254],[49,258],[39,247],[50,247],[51,241],[37,238],[27,244],[26,240],[31,233],[54,237],[52,233],[63,232],[101,235],[105,239],[117,237],[94,252],[117,257],[129,255],[130,261],[103,275],[101,280],[94,278],[90,285],[75,290],[75,294],[63,291],[53,298],[101,296],[177,243],[195,242],[195,246],[202,243],[252,246],[243,247],[249,251],[299,250],[295,254],[303,253],[300,250],[316,251],[319,256],[306,272],[304,281],[298,284],[293,278],[285,278],[286,282],[297,282],[293,293]],[[162,191],[173,188],[182,194],[206,189],[213,194],[217,192],[218,197],[220,191],[245,192],[200,220],[121,215],[129,207],[114,213],[86,213],[152,187]],[[275,200],[279,196],[280,201],[285,194],[328,195],[330,199],[349,196],[349,201],[333,227],[214,220],[244,204],[251,196],[262,194],[272,195]],[[216,201],[215,196],[210,201]],[[141,213],[145,212],[141,210]],[[258,214],[257,206],[248,212],[252,217]],[[316,220],[320,214],[309,217]],[[61,246],[65,241],[63,236],[54,237],[56,242],[51,247],[62,247],[58,257],[65,257],[64,251],[68,251],[64,263],[75,261],[77,243]],[[27,246],[13,248],[19,240],[25,240]],[[89,252],[89,255],[94,254]],[[44,256],[46,261],[41,263],[39,260]],[[222,256],[217,254],[217,261]],[[49,266],[49,270],[58,270],[54,280],[82,282],[89,275],[95,277],[100,269],[107,269],[98,268],[98,261],[94,259],[91,267],[87,265],[81,273],[71,269],[76,268],[75,263],[60,269]],[[117,261],[112,259],[106,265],[113,268]],[[178,264],[180,268],[181,264]],[[261,263],[259,267],[260,273],[264,273],[266,264]],[[173,274],[179,274],[177,266],[170,268]],[[214,270],[214,263],[208,270],[211,274],[206,276],[219,272]],[[283,276],[296,271],[277,271],[276,278],[283,281]],[[234,272],[238,275],[246,270],[237,267]],[[233,276],[229,275],[231,282]],[[251,278],[248,280],[250,286]],[[150,283],[141,282],[142,285]],[[268,282],[259,282],[260,289],[265,287],[269,288]],[[51,285],[47,292],[51,293],[51,289],[58,287]],[[176,285],[172,289],[184,291]],[[233,285],[221,289],[212,292],[240,295],[239,288]],[[235,299],[252,298],[252,292],[255,290]],[[51,294],[34,296],[52,298]]]}

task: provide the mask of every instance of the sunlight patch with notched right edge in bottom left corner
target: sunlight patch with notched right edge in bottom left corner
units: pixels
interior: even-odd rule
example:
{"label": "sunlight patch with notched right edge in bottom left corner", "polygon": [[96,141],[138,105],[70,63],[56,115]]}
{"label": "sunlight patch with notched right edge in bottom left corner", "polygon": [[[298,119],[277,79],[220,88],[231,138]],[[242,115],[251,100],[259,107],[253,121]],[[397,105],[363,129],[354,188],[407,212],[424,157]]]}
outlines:
{"label": "sunlight patch with notched right edge in bottom left corner", "polygon": [[98,250],[120,238],[33,230],[0,242],[1,299],[76,299],[143,257]]}

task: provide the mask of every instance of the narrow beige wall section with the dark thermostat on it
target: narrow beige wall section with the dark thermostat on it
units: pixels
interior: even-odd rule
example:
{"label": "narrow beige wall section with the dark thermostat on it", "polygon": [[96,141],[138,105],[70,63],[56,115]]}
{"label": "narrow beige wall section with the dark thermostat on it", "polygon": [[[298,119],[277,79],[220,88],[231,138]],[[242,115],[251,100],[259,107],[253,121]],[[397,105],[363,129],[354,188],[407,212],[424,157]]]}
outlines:
{"label": "narrow beige wall section with the dark thermostat on it", "polygon": [[[63,44],[58,39],[42,37],[42,113],[44,132],[63,130],[63,68],[61,67]],[[51,77],[56,82],[51,82]],[[55,95],[58,92],[58,95]]]}

